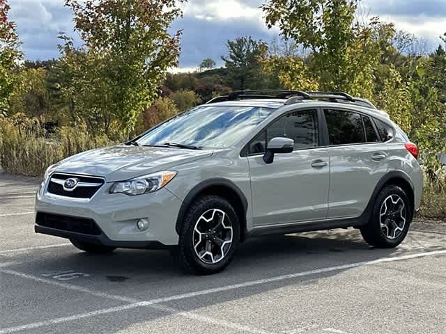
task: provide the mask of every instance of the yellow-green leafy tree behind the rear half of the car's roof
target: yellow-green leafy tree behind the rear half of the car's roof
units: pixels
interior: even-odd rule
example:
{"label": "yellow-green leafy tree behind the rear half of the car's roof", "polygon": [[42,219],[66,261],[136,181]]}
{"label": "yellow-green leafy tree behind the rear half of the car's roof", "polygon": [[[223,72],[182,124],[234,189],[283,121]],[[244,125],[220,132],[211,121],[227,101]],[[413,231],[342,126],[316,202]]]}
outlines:
{"label": "yellow-green leafy tree behind the rear half of the car's roof", "polygon": [[381,42],[393,27],[376,17],[366,23],[355,21],[356,8],[357,0],[268,1],[263,5],[268,27],[279,26],[285,40],[311,53],[272,56],[266,68],[286,68],[279,71],[286,86],[345,90],[372,99]]}

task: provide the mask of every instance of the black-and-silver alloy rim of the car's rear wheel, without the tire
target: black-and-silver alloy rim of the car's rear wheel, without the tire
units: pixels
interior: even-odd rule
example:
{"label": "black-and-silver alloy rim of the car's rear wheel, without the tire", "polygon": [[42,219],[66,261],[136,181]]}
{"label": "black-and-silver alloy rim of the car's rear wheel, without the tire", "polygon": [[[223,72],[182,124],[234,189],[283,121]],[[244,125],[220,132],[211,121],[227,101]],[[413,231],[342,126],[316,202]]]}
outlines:
{"label": "black-and-silver alloy rim of the car's rear wheel, without the tire", "polygon": [[406,205],[398,195],[385,198],[379,214],[380,228],[387,239],[397,239],[406,225]]}

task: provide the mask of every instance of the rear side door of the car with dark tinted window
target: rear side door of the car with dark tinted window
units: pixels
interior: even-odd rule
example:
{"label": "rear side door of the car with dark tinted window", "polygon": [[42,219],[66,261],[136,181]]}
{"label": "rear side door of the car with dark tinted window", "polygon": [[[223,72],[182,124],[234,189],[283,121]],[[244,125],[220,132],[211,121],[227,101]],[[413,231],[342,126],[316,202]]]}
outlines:
{"label": "rear side door of the car with dark tinted window", "polygon": [[330,155],[328,218],[362,214],[387,172],[387,149],[373,120],[362,113],[325,109]]}

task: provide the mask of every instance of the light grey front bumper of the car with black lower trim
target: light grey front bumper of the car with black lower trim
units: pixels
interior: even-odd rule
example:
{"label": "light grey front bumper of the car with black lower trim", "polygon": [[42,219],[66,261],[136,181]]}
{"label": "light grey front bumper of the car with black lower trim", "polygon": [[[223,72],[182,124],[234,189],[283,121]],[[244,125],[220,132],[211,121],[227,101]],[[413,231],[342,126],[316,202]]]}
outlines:
{"label": "light grey front bumper of the car with black lower trim", "polygon": [[[36,196],[38,233],[79,239],[93,244],[123,248],[167,248],[178,244],[175,223],[182,202],[167,189],[140,196],[108,193],[105,184],[88,202],[70,198],[54,198],[39,189]],[[39,223],[39,214],[60,216],[61,224]],[[93,221],[97,233],[67,228],[64,217]],[[145,219],[148,229],[137,229],[137,221]]]}

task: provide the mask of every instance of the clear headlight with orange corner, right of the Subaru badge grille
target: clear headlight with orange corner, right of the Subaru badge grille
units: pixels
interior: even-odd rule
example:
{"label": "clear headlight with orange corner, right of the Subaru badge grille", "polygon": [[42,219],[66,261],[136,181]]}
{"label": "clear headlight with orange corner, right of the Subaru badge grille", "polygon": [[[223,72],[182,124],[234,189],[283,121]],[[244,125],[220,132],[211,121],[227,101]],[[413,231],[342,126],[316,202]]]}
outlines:
{"label": "clear headlight with orange corner, right of the Subaru badge grille", "polygon": [[174,170],[135,177],[132,180],[116,182],[110,189],[110,193],[125,193],[125,195],[142,195],[160,190],[176,176]]}

